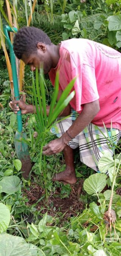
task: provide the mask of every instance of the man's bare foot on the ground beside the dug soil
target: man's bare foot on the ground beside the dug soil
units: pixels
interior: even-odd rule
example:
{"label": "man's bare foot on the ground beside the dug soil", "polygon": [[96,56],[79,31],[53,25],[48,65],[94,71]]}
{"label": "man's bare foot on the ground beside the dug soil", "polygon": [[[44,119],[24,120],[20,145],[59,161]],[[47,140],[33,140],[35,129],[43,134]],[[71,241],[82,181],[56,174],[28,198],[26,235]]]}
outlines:
{"label": "man's bare foot on the ground beside the dug soil", "polygon": [[65,169],[61,173],[57,173],[53,177],[53,181],[63,181],[69,184],[75,184],[77,182],[75,170]]}

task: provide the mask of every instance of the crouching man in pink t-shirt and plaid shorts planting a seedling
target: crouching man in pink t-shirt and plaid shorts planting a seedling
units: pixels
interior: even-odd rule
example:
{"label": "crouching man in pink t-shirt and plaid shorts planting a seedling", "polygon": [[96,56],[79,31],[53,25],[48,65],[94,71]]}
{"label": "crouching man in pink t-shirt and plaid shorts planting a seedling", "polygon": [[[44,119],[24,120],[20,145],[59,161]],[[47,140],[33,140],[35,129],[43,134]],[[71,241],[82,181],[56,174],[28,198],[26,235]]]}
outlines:
{"label": "crouching man in pink t-shirt and plaid shorts planting a seedling", "polygon": [[[45,155],[64,151],[66,169],[54,180],[76,182],[73,148],[78,146],[81,162],[98,171],[98,161],[104,152],[114,153],[107,138],[116,144],[121,136],[121,53],[87,39],[69,39],[56,46],[42,30],[34,27],[18,31],[14,52],[31,71],[43,62],[44,74],[49,74],[53,85],[59,70],[58,98],[71,79],[77,77],[75,96],[61,113],[67,116],[71,111],[71,115],[51,129],[59,138],[43,147]],[[33,105],[23,101],[12,101],[11,107],[14,113],[19,108],[22,114],[34,112]]]}

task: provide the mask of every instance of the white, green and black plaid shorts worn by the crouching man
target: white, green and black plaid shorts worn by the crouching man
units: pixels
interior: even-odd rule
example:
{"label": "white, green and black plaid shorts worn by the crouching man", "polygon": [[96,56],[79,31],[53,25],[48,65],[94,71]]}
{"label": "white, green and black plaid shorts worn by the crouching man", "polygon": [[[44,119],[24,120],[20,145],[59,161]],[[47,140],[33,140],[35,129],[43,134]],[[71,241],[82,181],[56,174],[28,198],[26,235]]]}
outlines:
{"label": "white, green and black plaid shorts worn by the crouching man", "polygon": [[[72,109],[69,117],[65,119],[58,117],[57,121],[59,121],[59,123],[53,125],[51,132],[60,138],[62,134],[70,128],[78,115],[79,114]],[[110,145],[108,136],[113,143],[117,144],[121,137],[121,131],[115,128],[107,128],[106,131],[104,127],[95,126],[95,124],[90,123],[68,143],[68,146],[73,149],[79,147],[81,162],[93,170],[99,171],[98,161],[100,157],[107,152],[110,152],[112,155],[114,154],[114,148]]]}

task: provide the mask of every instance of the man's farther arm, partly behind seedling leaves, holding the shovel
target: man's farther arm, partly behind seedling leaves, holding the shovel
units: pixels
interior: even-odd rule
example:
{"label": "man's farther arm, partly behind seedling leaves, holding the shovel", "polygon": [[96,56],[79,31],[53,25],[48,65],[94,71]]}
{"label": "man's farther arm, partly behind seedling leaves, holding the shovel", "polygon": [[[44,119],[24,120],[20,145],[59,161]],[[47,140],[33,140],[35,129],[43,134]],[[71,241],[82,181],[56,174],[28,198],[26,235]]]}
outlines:
{"label": "man's farther arm, partly behind seedling leaves, holding the shovel", "polygon": [[[58,96],[57,96],[57,101],[59,101],[59,98],[62,94],[62,90],[59,90]],[[18,106],[17,106],[18,104]],[[14,111],[15,114],[21,109],[22,114],[28,114],[28,113],[36,113],[36,107],[33,105],[27,105],[24,101],[19,100],[19,101],[11,101],[10,102],[10,107]],[[60,113],[59,116],[68,116],[70,115],[70,104],[67,105],[67,107]],[[47,110],[47,116],[49,115],[50,112],[50,106],[46,107]]]}

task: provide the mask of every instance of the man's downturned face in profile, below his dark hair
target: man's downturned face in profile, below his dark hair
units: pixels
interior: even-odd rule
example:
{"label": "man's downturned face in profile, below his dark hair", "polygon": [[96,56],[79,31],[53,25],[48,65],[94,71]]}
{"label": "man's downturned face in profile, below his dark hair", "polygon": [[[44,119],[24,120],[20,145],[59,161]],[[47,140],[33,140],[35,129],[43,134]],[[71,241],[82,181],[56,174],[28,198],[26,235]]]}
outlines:
{"label": "man's downturned face in profile, below his dark hair", "polygon": [[47,50],[43,51],[41,49],[37,49],[36,52],[31,53],[28,57],[23,54],[22,60],[26,65],[30,65],[31,71],[34,71],[36,68],[40,69],[40,66],[43,66],[44,74],[48,74],[52,68],[52,61]]}

